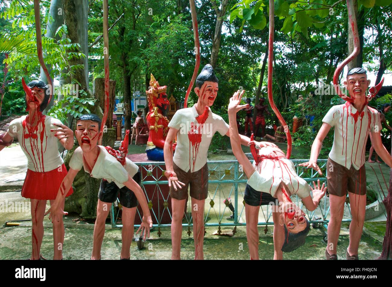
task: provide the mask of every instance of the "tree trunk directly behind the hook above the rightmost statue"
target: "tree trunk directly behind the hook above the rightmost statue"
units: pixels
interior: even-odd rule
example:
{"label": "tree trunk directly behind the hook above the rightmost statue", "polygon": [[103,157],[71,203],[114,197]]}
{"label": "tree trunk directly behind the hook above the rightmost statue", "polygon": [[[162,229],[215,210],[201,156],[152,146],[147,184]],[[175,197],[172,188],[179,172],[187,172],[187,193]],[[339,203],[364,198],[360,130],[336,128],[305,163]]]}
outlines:
{"label": "tree trunk directly behind the hook above the rightmost statue", "polygon": [[[359,36],[359,54],[354,58],[350,63],[348,63],[348,70],[352,68],[361,68],[363,63],[363,31],[364,31],[364,11],[362,10],[358,14],[358,2],[354,0],[354,11],[355,11],[355,18],[357,20],[358,26],[358,36]],[[352,37],[352,31],[350,27],[350,22],[348,20],[348,55],[352,53],[354,50],[354,40]]]}

